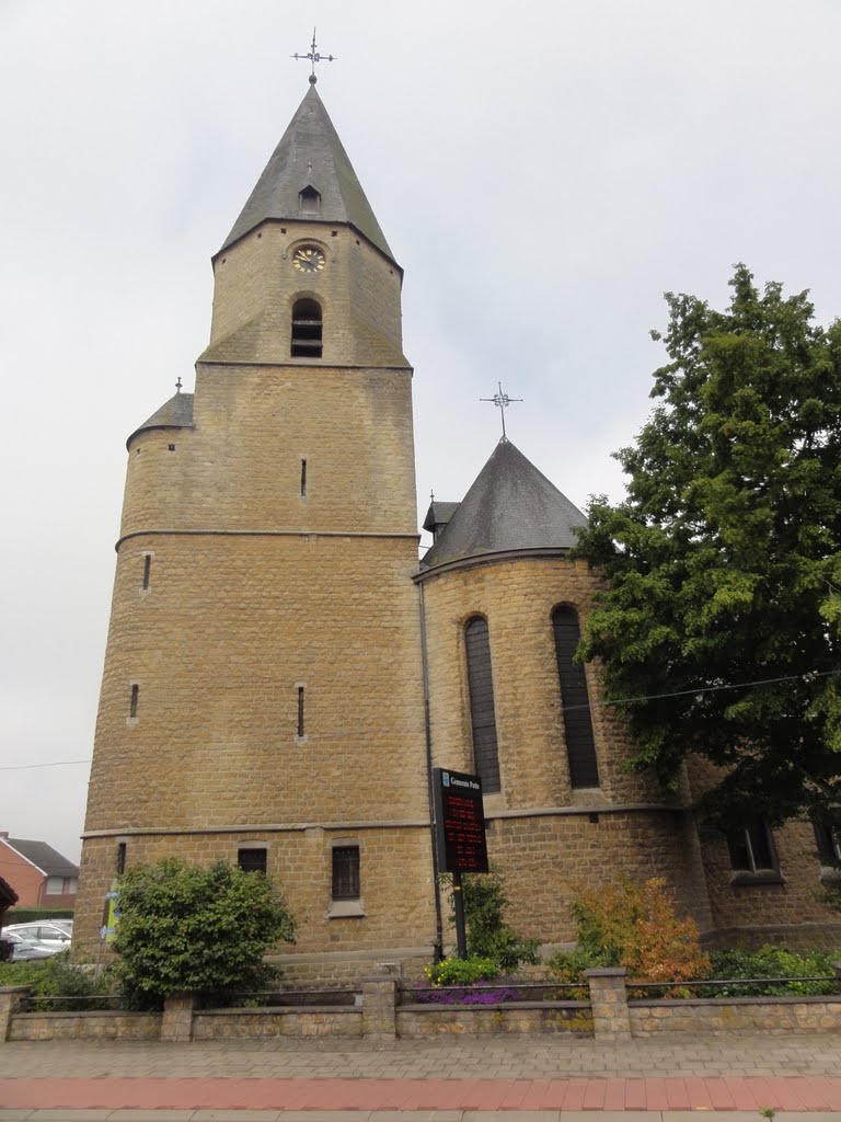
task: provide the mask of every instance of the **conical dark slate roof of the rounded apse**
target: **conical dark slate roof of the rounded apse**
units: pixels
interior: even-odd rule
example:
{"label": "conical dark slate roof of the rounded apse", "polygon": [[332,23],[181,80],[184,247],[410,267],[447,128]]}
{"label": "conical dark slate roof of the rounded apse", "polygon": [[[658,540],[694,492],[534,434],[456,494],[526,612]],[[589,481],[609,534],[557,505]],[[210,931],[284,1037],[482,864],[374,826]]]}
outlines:
{"label": "conical dark slate roof of the rounded apse", "polygon": [[569,550],[586,518],[505,436],[424,555],[427,570],[452,561],[529,550]]}

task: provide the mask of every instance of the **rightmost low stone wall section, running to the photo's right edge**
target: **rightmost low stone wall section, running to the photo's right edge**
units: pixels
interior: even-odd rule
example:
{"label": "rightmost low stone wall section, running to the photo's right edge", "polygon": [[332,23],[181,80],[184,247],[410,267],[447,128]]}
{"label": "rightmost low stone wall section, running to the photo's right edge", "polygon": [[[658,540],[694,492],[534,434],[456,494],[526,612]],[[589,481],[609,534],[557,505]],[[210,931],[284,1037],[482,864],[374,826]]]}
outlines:
{"label": "rightmost low stone wall section, running to the photo's right edge", "polygon": [[702,997],[630,1001],[631,1034],[825,1032],[841,1029],[841,997]]}

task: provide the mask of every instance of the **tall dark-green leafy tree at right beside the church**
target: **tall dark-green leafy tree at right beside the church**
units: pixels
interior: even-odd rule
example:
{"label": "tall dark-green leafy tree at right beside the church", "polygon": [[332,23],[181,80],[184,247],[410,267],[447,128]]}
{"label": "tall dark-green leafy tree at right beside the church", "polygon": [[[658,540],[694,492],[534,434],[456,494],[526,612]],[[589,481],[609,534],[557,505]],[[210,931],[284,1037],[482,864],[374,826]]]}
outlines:
{"label": "tall dark-green leafy tree at right beside the church", "polygon": [[576,546],[608,580],[581,650],[630,766],[720,765],[701,809],[724,829],[841,802],[841,322],[742,265],[730,285],[723,312],[666,295],[627,497],[593,499]]}

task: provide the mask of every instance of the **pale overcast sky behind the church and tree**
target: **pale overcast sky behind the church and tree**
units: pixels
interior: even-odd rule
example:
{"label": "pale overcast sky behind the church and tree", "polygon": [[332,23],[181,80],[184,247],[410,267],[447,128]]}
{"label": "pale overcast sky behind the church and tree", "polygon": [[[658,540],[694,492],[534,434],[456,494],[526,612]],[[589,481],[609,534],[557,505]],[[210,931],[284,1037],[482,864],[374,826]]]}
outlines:
{"label": "pale overcast sky behind the church and tree", "polygon": [[[743,260],[841,314],[837,0],[0,0],[0,766],[90,758],[124,440],[193,387],[313,22],[406,269],[422,514],[499,380],[540,470],[620,498],[665,291],[721,305]],[[0,829],[77,859],[87,770],[0,771]]]}

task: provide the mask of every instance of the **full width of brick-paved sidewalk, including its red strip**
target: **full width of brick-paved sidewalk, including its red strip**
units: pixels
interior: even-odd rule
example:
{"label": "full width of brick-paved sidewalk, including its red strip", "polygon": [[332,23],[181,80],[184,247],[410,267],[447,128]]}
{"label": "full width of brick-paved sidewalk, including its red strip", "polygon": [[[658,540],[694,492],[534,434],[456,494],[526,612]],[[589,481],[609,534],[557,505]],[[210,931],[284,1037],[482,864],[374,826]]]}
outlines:
{"label": "full width of brick-paved sidewalk, including its red strip", "polygon": [[127,1110],[155,1122],[200,1122],[220,1111],[234,1112],[230,1116],[239,1122],[292,1122],[292,1112],[299,1111],[309,1122],[340,1122],[338,1111],[342,1122],[408,1120],[407,1112],[427,1119],[442,1111],[441,1122],[472,1122],[475,1112],[488,1111],[505,1112],[508,1122],[524,1111],[535,1122],[556,1120],[560,1112],[562,1122],[572,1122],[570,1112],[629,1112],[629,1122],[646,1111],[650,1122],[702,1110],[745,1111],[756,1119],[766,1106],[839,1112],[841,1120],[841,1033],[623,1045],[447,1038],[380,1049],[298,1038],[0,1045],[0,1122],[139,1122]]}

